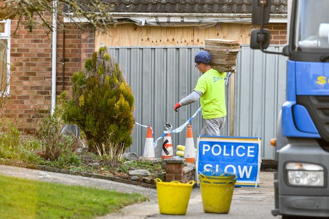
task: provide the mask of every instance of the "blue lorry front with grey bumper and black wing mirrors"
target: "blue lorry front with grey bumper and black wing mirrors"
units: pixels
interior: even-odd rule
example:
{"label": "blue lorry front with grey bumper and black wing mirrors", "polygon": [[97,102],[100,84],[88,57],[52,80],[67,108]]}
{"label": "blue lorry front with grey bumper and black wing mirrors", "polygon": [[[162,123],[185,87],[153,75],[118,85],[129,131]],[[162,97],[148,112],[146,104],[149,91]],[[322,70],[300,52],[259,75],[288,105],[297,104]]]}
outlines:
{"label": "blue lorry front with grey bumper and black wing mirrors", "polygon": [[[250,46],[287,56],[286,102],[278,118],[275,207],[282,218],[329,218],[329,1],[293,0],[288,44],[268,51],[268,0],[252,1]],[[290,8],[290,5],[288,9]]]}

